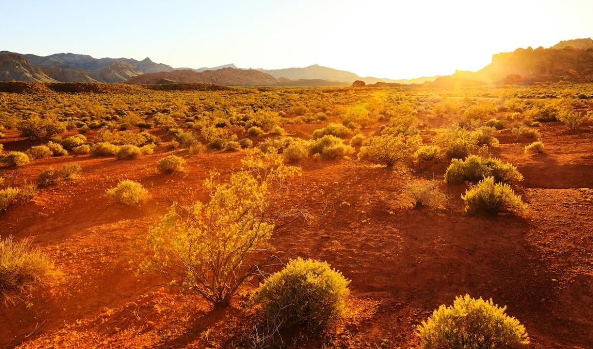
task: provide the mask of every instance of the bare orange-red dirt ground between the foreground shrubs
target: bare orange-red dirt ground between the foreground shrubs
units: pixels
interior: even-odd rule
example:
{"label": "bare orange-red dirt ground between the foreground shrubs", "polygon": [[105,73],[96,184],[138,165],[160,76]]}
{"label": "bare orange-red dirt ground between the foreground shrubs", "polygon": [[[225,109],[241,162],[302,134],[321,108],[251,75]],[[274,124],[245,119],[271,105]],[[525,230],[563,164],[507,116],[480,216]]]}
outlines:
{"label": "bare orange-red dirt ground between the foreground shrubs", "polygon": [[[500,145],[493,154],[525,177],[518,190],[530,207],[523,217],[464,215],[460,193],[467,186],[444,183],[447,211],[413,210],[402,194],[410,173],[348,159],[302,164],[285,204],[305,207],[314,218],[283,227],[272,243],[286,258],[327,261],[352,280],[352,313],[327,346],[413,347],[420,321],[468,293],[506,304],[533,348],[593,348],[593,127],[570,132],[552,122],[540,130],[546,153],[535,156],[523,153],[527,143],[504,131],[495,135]],[[14,134],[2,142],[5,150],[27,144]],[[2,170],[16,182],[67,162],[83,169],[76,182],[43,189],[0,216],[1,236],[31,237],[66,275],[28,304],[0,310],[1,345],[215,348],[238,341],[250,326],[237,306],[243,297],[211,311],[197,296],[155,289],[164,280],[136,275],[135,252],[171,201],[207,198],[208,172],[237,169],[243,154],[174,151],[186,157],[189,171],[166,176],[155,173],[163,153],[161,146],[139,160],[68,156]],[[446,164],[437,167],[415,175],[442,179]],[[125,178],[141,182],[151,199],[132,207],[110,203],[105,191]]]}

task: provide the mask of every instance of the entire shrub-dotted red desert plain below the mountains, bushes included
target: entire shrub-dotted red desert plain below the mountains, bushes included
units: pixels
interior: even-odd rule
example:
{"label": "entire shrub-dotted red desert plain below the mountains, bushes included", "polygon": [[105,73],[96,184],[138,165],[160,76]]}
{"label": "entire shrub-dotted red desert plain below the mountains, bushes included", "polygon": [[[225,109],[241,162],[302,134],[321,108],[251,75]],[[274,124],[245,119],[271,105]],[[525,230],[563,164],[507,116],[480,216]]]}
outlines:
{"label": "entire shrub-dotted red desert plain below the mountains, bushes included", "polygon": [[3,324],[30,347],[588,347],[592,91],[0,93],[0,297],[29,308]]}

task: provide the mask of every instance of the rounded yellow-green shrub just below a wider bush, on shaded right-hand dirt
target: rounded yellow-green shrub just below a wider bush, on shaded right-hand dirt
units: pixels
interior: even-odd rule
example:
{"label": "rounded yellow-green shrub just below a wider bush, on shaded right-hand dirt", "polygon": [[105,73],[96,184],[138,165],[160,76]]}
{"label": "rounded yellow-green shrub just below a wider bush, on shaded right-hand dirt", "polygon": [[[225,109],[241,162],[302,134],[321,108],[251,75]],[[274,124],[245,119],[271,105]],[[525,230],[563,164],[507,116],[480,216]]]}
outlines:
{"label": "rounded yellow-green shrub just below a wider bush, on shaded right-hand dirt", "polygon": [[472,186],[461,195],[466,204],[465,211],[474,213],[478,211],[487,212],[492,215],[500,212],[522,212],[527,205],[521,200],[521,196],[515,194],[510,185],[496,183],[494,177],[485,177],[477,185]]}

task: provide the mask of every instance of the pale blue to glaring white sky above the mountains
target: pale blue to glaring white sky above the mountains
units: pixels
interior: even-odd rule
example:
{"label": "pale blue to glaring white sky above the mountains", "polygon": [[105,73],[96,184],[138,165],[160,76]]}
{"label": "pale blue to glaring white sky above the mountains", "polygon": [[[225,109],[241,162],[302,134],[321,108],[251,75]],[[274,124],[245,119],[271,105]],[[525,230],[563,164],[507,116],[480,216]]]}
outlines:
{"label": "pale blue to glaring white sky above the mountains", "polygon": [[380,78],[476,71],[493,53],[593,36],[593,0],[0,0],[0,10],[0,50]]}

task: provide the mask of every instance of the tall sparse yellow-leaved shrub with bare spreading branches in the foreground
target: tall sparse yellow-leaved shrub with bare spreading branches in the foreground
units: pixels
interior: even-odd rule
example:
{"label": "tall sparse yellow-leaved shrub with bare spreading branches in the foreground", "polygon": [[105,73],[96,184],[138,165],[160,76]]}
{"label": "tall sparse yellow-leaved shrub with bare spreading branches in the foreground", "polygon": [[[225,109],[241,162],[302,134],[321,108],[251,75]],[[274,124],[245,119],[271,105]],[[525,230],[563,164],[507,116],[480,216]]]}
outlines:
{"label": "tall sparse yellow-leaved shrub with bare spreading branches in the foreground", "polygon": [[[173,205],[149,230],[151,257],[145,268],[161,271],[184,290],[225,307],[250,275],[275,263],[272,257],[256,260],[262,258],[275,227],[270,205],[285,188],[271,184],[286,183],[297,169],[283,166],[278,154],[263,156],[275,166],[248,154],[243,163],[249,170],[234,173],[227,183],[217,183],[215,174],[205,181],[211,193],[208,202]],[[249,264],[244,263],[248,256],[253,257]]]}

